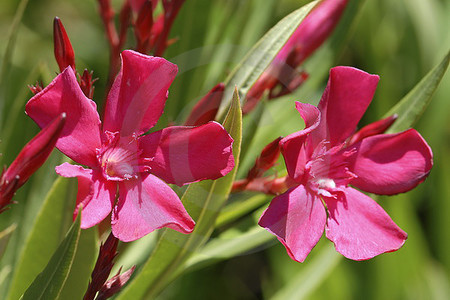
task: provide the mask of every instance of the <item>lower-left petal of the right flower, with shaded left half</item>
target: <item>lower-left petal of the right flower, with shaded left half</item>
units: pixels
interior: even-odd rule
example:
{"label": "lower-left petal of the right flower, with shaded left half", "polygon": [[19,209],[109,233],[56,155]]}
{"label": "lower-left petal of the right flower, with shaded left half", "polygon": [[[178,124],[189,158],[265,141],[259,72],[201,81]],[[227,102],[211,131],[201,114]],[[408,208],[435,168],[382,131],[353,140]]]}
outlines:
{"label": "lower-left petal of the right flower, with shaded left half", "polygon": [[325,221],[320,199],[299,185],[275,197],[258,224],[277,236],[292,259],[303,262],[322,236]]}

